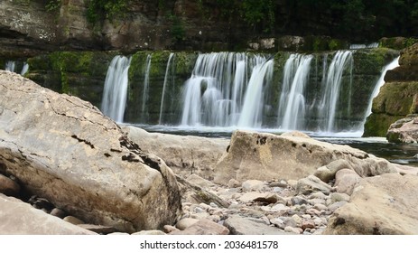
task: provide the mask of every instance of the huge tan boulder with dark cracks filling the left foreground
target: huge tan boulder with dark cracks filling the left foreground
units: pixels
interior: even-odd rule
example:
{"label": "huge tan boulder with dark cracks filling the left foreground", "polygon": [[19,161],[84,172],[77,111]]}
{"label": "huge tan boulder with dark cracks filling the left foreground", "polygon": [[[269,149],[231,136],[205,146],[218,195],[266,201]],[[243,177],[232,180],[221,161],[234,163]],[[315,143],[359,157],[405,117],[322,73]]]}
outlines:
{"label": "huge tan boulder with dark cracks filling the left foreground", "polygon": [[0,172],[88,223],[134,232],[172,224],[172,170],[98,108],[0,70]]}

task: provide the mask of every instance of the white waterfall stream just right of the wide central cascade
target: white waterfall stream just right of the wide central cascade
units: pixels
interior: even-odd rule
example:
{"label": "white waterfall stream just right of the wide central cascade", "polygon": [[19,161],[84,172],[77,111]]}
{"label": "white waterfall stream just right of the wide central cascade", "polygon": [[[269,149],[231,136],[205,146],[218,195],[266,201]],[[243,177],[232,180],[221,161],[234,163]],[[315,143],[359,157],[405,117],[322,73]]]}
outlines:
{"label": "white waterfall stream just right of the wide central cascade", "polygon": [[303,126],[305,113],[303,94],[309,80],[312,58],[312,55],[292,54],[284,65],[283,88],[278,111],[278,121],[282,120],[282,129],[301,129]]}

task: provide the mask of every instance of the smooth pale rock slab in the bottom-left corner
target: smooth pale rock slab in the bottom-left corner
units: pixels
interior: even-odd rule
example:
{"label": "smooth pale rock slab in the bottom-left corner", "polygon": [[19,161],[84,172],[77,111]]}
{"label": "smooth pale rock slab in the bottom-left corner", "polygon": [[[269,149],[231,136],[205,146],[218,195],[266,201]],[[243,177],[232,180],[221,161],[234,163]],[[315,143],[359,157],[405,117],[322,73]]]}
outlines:
{"label": "smooth pale rock slab in the bottom-left corner", "polygon": [[0,234],[94,235],[96,233],[0,193]]}

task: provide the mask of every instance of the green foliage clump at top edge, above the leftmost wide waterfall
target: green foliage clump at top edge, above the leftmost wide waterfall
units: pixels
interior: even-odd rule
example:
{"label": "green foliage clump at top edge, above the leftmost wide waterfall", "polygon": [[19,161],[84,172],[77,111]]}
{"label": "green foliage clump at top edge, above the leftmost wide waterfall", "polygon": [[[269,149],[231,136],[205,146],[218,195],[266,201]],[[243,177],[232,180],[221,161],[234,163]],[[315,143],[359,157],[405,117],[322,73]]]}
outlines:
{"label": "green foliage clump at top edge, above the leftmost wide waterfall", "polygon": [[124,18],[127,10],[125,0],[88,0],[87,19],[89,23],[98,23],[105,19]]}

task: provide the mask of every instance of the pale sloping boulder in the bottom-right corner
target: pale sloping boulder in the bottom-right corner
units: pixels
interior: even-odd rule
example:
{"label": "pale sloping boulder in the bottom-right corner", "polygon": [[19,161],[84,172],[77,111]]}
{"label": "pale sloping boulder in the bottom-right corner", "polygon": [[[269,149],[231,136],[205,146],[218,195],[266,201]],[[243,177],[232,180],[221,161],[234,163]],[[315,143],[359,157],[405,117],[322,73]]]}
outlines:
{"label": "pale sloping boulder in the bottom-right corner", "polygon": [[324,234],[418,234],[418,176],[388,173],[361,179]]}

